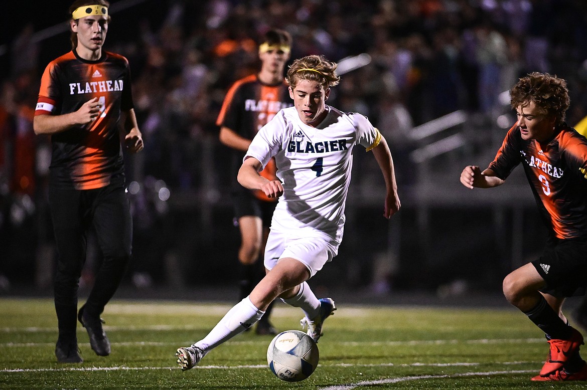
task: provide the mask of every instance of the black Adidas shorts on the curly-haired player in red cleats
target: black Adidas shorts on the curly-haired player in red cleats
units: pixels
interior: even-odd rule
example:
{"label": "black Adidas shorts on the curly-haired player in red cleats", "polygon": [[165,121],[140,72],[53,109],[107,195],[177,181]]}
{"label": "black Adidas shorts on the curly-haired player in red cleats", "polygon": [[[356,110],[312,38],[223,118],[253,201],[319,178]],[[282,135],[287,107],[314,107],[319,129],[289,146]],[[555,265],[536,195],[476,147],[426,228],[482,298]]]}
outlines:
{"label": "black Adidas shorts on the curly-haired player in red cleats", "polygon": [[585,295],[587,287],[587,242],[549,239],[544,253],[532,265],[546,287],[541,291],[563,298]]}

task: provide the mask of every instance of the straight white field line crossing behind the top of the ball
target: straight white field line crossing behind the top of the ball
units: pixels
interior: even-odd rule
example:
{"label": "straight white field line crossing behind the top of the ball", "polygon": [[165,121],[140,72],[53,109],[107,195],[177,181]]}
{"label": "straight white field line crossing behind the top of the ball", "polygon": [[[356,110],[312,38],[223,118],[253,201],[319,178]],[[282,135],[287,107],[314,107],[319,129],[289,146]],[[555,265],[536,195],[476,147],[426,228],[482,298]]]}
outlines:
{"label": "straight white field line crossing behind the top of the ball", "polygon": [[[255,345],[265,341],[227,341],[226,344],[234,345]],[[347,345],[349,347],[375,347],[375,346],[411,346],[411,345],[455,345],[455,344],[533,344],[544,342],[544,338],[500,338],[500,339],[480,339],[480,340],[407,340],[407,341],[329,341],[330,344]],[[41,347],[45,345],[54,345],[54,342],[4,342],[0,343],[0,348],[8,347]],[[80,345],[89,345],[89,343],[79,343]],[[165,345],[188,345],[191,341],[185,342],[157,342],[157,341],[129,341],[129,342],[112,342],[112,345],[133,347],[133,346],[165,346]]]}

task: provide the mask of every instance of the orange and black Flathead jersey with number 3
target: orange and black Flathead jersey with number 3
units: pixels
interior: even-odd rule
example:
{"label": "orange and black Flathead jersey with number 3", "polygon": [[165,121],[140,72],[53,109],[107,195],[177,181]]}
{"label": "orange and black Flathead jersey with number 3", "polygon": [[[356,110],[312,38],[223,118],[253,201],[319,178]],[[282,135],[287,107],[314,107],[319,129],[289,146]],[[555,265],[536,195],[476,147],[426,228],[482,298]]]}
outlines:
{"label": "orange and black Flathead jersey with number 3", "polygon": [[505,179],[519,163],[546,225],[560,239],[587,239],[587,140],[573,128],[556,128],[547,143],[508,131],[489,168]]}

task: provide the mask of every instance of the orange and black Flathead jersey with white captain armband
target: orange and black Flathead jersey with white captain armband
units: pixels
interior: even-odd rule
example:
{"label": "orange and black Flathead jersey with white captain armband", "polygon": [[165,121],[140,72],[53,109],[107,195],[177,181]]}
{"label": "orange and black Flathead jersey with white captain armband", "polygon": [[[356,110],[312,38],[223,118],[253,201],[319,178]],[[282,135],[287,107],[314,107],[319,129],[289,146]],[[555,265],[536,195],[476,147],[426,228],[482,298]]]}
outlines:
{"label": "orange and black Flathead jersey with white captain armband", "polygon": [[35,115],[72,113],[93,98],[102,103],[95,121],[51,136],[51,185],[93,189],[124,183],[119,119],[121,110],[133,108],[125,57],[103,52],[88,61],[72,50],[53,60],[41,79]]}

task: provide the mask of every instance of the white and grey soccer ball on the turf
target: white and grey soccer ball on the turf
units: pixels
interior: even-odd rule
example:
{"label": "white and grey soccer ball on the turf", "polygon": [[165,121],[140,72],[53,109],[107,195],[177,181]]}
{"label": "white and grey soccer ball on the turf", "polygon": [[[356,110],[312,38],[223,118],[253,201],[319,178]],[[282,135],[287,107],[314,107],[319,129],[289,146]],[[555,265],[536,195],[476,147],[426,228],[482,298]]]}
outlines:
{"label": "white and grey soccer ball on the turf", "polygon": [[299,330],[279,333],[267,348],[267,364],[276,377],[288,382],[303,381],[318,366],[318,345]]}

